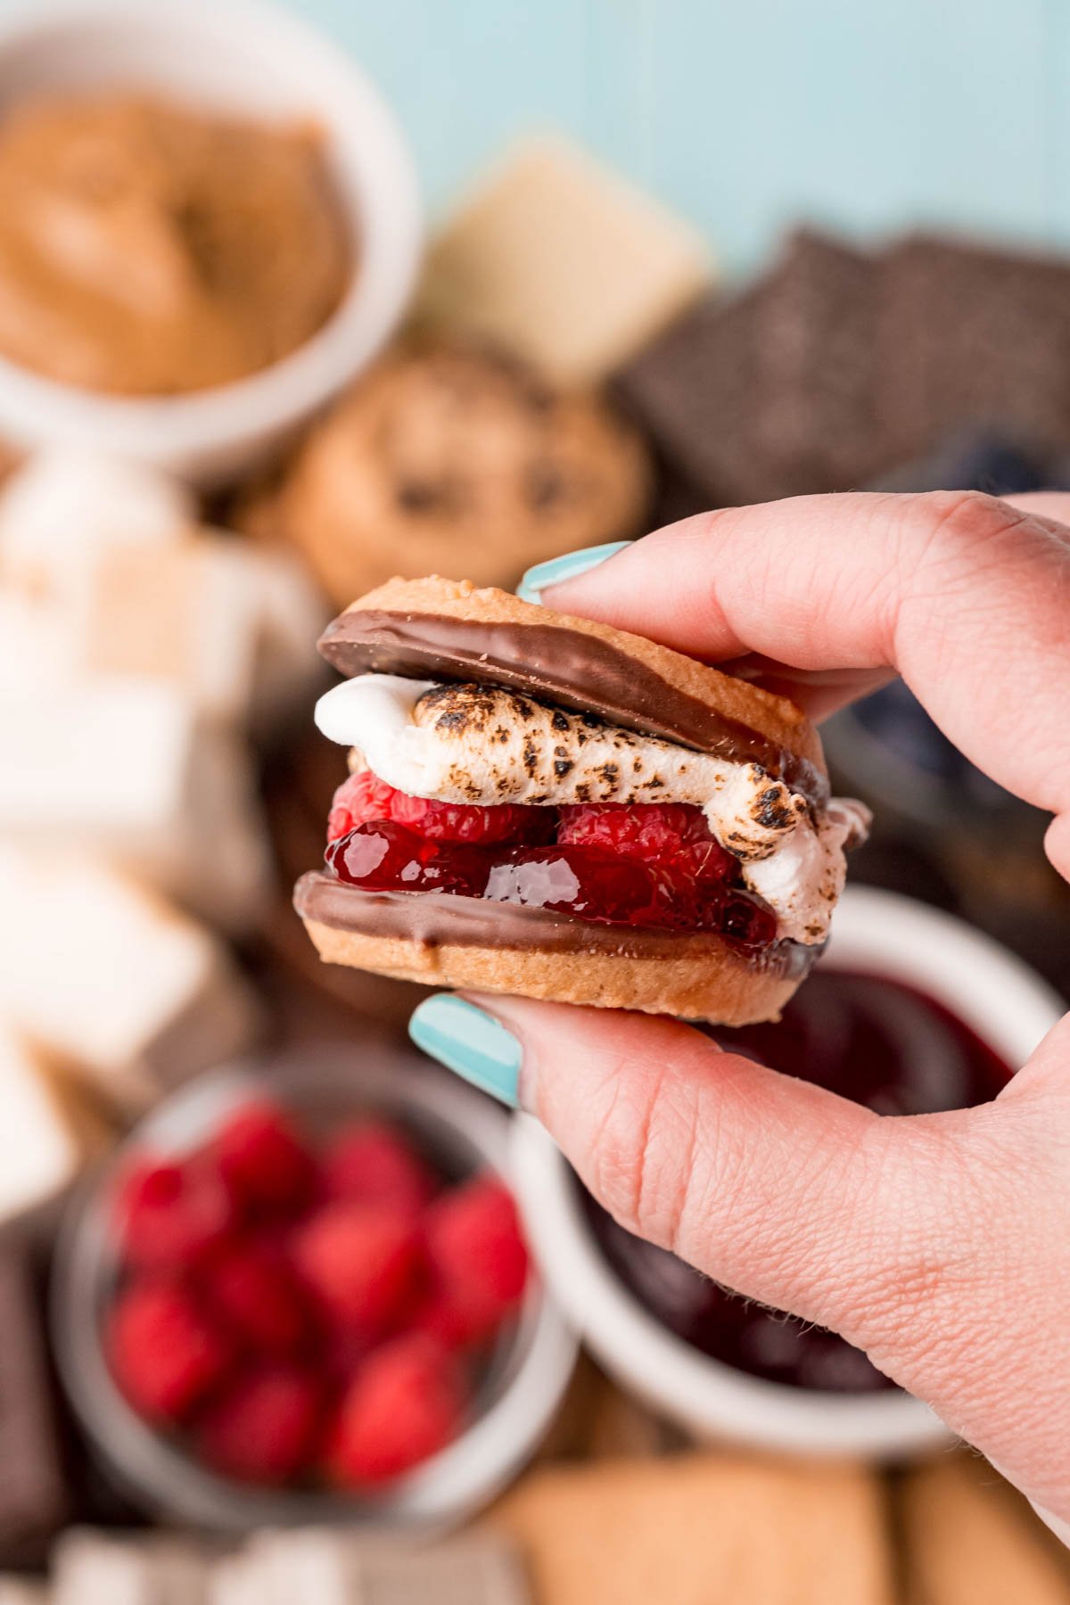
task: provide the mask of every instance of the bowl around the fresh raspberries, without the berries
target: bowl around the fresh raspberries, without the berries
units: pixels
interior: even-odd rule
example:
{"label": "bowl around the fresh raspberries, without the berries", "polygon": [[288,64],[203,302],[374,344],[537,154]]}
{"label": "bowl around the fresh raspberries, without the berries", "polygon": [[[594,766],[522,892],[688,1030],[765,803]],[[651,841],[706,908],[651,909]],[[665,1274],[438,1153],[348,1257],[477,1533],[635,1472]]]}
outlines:
{"label": "bowl around the fresh raspberries, without the berries", "polygon": [[321,1127],[356,1109],[383,1112],[419,1132],[428,1151],[459,1175],[489,1167],[510,1180],[505,1111],[414,1054],[316,1045],[201,1077],[148,1115],[71,1201],[51,1286],[53,1343],[64,1387],[116,1480],[138,1504],[167,1518],[231,1533],[297,1525],[446,1531],[488,1504],[525,1465],[573,1372],[576,1337],[539,1278],[531,1278],[515,1326],[494,1350],[472,1424],[375,1501],[260,1489],[217,1477],[148,1425],[111,1375],[99,1314],[114,1284],[116,1175],[143,1148],[188,1151],[257,1091],[274,1093]]}

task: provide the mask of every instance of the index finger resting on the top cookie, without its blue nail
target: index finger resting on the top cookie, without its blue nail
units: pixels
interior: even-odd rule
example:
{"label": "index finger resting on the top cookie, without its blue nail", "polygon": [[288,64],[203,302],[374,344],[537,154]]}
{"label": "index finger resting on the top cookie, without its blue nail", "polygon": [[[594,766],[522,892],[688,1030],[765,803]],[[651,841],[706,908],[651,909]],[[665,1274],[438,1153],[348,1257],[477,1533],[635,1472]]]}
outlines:
{"label": "index finger resting on the top cookie, without its blue nail", "polygon": [[975,491],[730,507],[544,595],[709,661],[863,687],[898,671],[993,780],[1070,811],[1070,544],[1027,509]]}

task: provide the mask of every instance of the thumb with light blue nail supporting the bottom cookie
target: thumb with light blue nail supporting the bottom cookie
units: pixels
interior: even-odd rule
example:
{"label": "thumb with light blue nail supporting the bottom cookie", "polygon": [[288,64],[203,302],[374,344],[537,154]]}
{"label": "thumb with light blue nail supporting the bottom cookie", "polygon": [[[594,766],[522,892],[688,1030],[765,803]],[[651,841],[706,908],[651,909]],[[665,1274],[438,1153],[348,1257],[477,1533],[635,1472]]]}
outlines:
{"label": "thumb with light blue nail supporting the bottom cookie", "polygon": [[536,1114],[629,1231],[842,1332],[1070,1517],[1067,1022],[996,1103],[911,1117],[671,1019],[440,995],[411,1029]]}

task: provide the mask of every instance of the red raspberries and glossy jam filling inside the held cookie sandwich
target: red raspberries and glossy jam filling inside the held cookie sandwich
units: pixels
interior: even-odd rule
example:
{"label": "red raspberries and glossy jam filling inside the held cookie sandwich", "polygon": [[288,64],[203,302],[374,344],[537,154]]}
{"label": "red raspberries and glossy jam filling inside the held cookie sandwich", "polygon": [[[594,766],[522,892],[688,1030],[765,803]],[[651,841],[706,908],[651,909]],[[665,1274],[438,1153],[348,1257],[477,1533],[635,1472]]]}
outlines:
{"label": "red raspberries and glossy jam filling inside the held cookie sandwich", "polygon": [[[738,884],[736,860],[714,841],[696,807],[425,806],[399,791],[383,796],[374,778],[359,788],[347,782],[332,820],[343,807],[353,817],[353,806],[356,812],[380,806],[390,819],[363,819],[330,841],[327,865],[350,886],[486,897],[600,924],[720,934],[743,947],[776,941],[775,915]],[[444,815],[478,814],[494,819],[483,827],[449,820],[454,833],[464,827],[460,839],[440,830]],[[507,823],[512,836],[502,839],[499,828]]]}

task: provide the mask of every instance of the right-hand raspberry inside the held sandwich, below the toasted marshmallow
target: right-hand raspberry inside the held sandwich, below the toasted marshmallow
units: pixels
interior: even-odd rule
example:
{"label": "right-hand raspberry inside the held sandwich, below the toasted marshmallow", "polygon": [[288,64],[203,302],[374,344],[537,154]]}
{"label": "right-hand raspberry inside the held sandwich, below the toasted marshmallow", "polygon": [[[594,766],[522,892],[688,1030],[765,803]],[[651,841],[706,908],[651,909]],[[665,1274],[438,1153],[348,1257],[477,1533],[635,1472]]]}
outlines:
{"label": "right-hand raspberry inside the held sandwich, below the toasted marshmallow", "polygon": [[[561,846],[605,847],[618,857],[699,870],[707,880],[723,880],[735,859],[714,841],[706,817],[690,802],[590,802],[560,811],[557,839]],[[698,852],[695,849],[699,849]]]}

